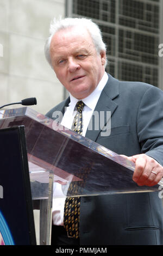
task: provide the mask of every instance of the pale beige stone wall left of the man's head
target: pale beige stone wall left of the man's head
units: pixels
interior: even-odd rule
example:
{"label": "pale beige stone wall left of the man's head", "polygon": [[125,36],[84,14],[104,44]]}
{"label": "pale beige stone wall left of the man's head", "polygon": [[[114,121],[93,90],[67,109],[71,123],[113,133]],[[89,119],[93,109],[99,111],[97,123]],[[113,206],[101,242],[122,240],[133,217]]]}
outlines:
{"label": "pale beige stone wall left of the man's head", "polygon": [[43,52],[49,24],[60,15],[65,16],[65,0],[0,0],[1,106],[36,97],[32,108],[45,114],[63,99],[64,88]]}

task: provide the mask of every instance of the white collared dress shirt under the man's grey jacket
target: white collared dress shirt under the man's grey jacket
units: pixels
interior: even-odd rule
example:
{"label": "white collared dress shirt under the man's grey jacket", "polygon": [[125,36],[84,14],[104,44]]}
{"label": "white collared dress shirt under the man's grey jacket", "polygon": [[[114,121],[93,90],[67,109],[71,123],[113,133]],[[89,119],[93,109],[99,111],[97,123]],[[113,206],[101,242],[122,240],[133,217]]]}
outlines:
{"label": "white collared dress shirt under the man's grey jacket", "polygon": [[[97,105],[97,101],[99,99],[99,96],[101,95],[101,92],[108,81],[108,75],[106,72],[104,72],[104,75],[99,82],[98,86],[96,87],[93,92],[87,96],[86,98],[82,99],[84,102],[83,112],[82,112],[82,123],[83,123],[83,133],[82,135],[85,136],[87,127],[89,125],[90,119],[92,117],[93,111],[95,110],[95,107]],[[66,108],[64,117],[62,118],[61,125],[67,127],[68,129],[71,129],[74,116],[76,114],[76,103],[79,100],[73,97],[70,94],[70,103],[68,107]],[[56,193],[56,190],[60,191],[61,193],[61,185],[57,182],[54,184],[54,190]],[[53,208],[52,208],[52,220],[54,225],[63,225],[64,222],[64,205],[65,205],[65,197],[60,198],[53,198]]]}

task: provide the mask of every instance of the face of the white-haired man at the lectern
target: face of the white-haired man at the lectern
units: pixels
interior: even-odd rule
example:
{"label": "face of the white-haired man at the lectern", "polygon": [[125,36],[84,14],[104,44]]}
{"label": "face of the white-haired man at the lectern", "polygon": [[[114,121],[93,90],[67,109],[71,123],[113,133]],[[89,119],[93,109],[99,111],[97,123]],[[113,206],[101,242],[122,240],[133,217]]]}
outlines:
{"label": "face of the white-haired man at the lectern", "polygon": [[97,87],[104,74],[105,52],[98,54],[85,28],[58,31],[50,54],[59,81],[77,99],[84,99]]}

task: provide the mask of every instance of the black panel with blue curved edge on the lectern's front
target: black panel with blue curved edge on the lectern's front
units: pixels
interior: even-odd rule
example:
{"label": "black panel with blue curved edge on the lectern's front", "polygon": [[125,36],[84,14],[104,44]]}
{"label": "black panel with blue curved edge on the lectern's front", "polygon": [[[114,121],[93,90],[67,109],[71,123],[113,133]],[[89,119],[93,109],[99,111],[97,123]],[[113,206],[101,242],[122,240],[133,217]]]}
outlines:
{"label": "black panel with blue curved edge on the lectern's front", "polygon": [[24,126],[0,130],[0,245],[36,245]]}

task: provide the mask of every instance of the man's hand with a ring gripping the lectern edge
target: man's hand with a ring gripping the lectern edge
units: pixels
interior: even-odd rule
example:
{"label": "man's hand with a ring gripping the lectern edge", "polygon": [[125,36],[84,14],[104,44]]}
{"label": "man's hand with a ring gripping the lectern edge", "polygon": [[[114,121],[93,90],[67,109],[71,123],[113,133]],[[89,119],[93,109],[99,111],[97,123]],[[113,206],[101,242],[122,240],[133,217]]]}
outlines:
{"label": "man's hand with a ring gripping the lectern edge", "polygon": [[135,163],[133,180],[137,185],[154,186],[162,179],[163,167],[152,157],[139,154],[127,159]]}

